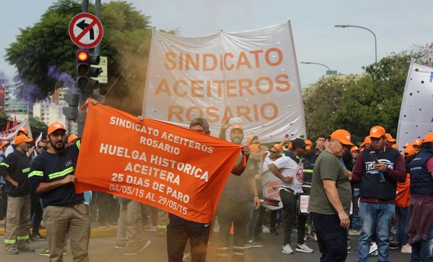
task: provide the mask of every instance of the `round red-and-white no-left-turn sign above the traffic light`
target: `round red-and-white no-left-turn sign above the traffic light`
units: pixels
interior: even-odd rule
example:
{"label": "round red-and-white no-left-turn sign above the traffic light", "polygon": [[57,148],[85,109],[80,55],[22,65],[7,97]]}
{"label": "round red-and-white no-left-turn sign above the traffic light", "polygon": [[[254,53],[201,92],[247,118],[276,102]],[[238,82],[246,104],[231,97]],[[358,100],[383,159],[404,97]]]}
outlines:
{"label": "round red-and-white no-left-turn sign above the traffic light", "polygon": [[102,40],[101,21],[91,13],[79,13],[69,23],[69,36],[80,48],[94,48]]}

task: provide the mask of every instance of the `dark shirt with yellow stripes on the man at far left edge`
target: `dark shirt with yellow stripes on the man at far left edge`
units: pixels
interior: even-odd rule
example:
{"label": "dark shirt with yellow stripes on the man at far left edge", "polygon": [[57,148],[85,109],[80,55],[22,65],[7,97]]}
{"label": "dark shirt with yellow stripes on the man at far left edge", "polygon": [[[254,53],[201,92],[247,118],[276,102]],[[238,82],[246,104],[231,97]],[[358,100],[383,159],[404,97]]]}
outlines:
{"label": "dark shirt with yellow stripes on the man at far left edge", "polygon": [[22,154],[17,150],[8,154],[8,157],[0,163],[1,175],[3,175],[3,177],[10,175],[13,180],[18,182],[18,189],[15,189],[15,187],[5,178],[6,194],[8,194],[8,196],[25,196],[30,193],[29,180],[27,180],[29,171],[30,162],[27,154]]}

